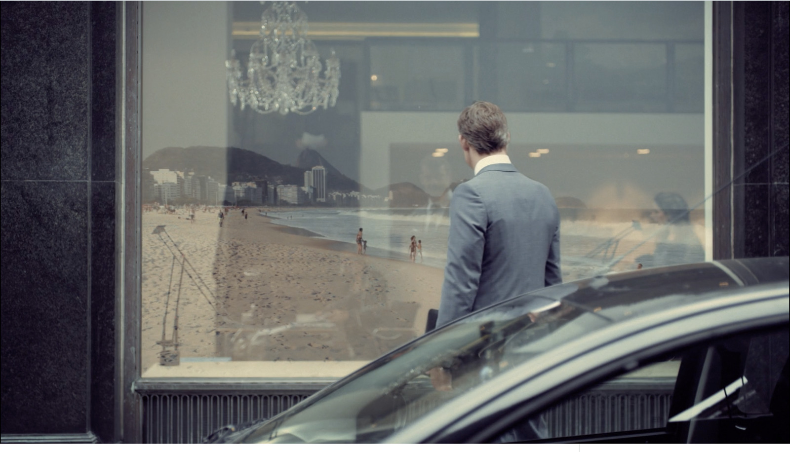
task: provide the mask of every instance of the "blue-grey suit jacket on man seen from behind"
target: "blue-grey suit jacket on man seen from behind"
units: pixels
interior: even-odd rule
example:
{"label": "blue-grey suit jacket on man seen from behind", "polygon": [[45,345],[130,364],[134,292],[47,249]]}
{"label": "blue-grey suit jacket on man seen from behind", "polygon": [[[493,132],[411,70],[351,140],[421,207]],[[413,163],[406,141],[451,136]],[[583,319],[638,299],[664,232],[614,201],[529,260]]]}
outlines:
{"label": "blue-grey suit jacket on man seen from behind", "polygon": [[559,283],[559,212],[544,184],[491,164],[456,187],[436,326]]}

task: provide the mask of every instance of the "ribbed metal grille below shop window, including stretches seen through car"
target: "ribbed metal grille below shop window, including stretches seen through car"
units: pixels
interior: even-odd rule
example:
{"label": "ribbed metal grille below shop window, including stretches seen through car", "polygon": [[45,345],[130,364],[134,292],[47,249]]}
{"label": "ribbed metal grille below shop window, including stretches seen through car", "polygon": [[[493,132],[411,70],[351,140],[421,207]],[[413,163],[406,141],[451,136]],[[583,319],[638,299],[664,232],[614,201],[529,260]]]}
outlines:
{"label": "ribbed metal grille below shop window, including stretches seen through car", "polygon": [[[228,424],[244,424],[275,416],[318,390],[138,391],[142,405],[143,443],[200,443]],[[663,428],[672,391],[590,391],[544,412],[550,438],[615,431]],[[402,426],[437,405],[418,403],[402,412]]]}

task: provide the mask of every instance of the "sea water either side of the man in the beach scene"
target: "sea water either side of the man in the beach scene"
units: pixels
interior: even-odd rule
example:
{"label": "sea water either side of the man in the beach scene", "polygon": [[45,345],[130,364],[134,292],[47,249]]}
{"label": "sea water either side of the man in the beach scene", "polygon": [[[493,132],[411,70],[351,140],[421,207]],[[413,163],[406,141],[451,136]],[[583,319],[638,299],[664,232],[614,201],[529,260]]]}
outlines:
{"label": "sea water either side of the man in the beach scene", "polygon": [[[261,215],[263,215],[261,213]],[[448,208],[414,209],[303,209],[266,214],[273,223],[302,228],[337,242],[355,243],[359,228],[367,240],[367,254],[408,261],[411,237],[422,240],[423,255],[416,262],[444,268]],[[560,256],[562,277],[573,281],[598,274],[635,269],[638,254],[652,252],[661,224],[635,221],[562,220]],[[668,264],[688,263],[678,254]]]}

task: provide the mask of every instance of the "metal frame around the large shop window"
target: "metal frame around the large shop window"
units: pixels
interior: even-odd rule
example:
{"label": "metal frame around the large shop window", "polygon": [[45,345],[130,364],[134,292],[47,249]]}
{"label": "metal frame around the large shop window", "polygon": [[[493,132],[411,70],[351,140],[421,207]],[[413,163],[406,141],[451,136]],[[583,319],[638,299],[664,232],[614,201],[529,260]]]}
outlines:
{"label": "metal frame around the large shop window", "polygon": [[[206,383],[201,379],[142,379],[141,352],[141,10],[142,2],[119,2],[116,6],[116,174],[119,190],[116,191],[116,256],[115,256],[115,426],[119,438],[125,443],[141,443],[141,397],[144,390],[201,390]],[[711,111],[710,130],[706,141],[711,144],[706,151],[712,154],[705,162],[706,171],[712,171],[711,183],[706,187],[722,187],[709,201],[712,205],[709,240],[713,258],[732,258],[732,239],[735,235],[732,216],[743,217],[743,200],[735,199],[731,186],[734,176],[732,159],[742,147],[743,112],[736,111],[732,99],[732,84],[741,87],[743,73],[736,73],[732,58],[743,53],[735,47],[734,39],[743,37],[743,24],[734,27],[733,10],[737,6],[727,3],[705,2],[706,41],[705,56],[712,58],[713,70],[705,74],[705,111]],[[480,41],[482,43],[482,41]],[[472,45],[471,43],[469,45]],[[473,76],[473,52],[469,51],[465,65]],[[369,55],[367,56],[369,59]],[[568,68],[567,70],[571,70]],[[468,77],[468,76],[467,76]],[[367,93],[367,89],[366,89]],[[743,96],[743,95],[741,95]],[[741,100],[742,101],[742,100]],[[368,105],[369,95],[363,100]],[[741,102],[743,104],[743,102]],[[710,109],[710,110],[708,110]],[[364,109],[362,110],[364,111]],[[708,119],[706,118],[706,122]],[[708,138],[709,137],[709,138]],[[739,141],[740,140],[740,141]],[[211,379],[210,386],[222,392],[266,390],[318,390],[329,382],[326,379],[284,379],[260,381],[244,379]],[[220,390],[220,389],[217,389]]]}

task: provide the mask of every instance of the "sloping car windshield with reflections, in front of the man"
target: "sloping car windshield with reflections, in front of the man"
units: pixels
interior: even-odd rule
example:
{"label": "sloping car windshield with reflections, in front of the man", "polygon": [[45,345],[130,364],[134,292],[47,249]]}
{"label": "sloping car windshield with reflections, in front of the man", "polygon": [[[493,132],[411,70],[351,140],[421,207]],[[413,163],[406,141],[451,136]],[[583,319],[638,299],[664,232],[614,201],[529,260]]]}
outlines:
{"label": "sloping car windshield with reflections, in front of the man", "polygon": [[676,275],[642,271],[540,289],[461,318],[251,428],[243,442],[374,443],[551,348],[688,303],[695,292],[739,286],[714,266]]}

